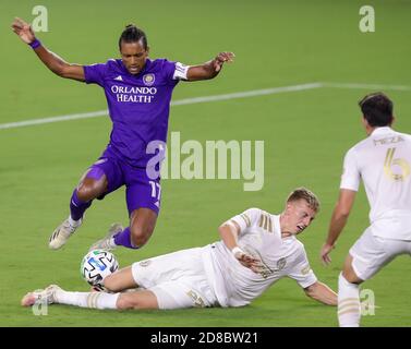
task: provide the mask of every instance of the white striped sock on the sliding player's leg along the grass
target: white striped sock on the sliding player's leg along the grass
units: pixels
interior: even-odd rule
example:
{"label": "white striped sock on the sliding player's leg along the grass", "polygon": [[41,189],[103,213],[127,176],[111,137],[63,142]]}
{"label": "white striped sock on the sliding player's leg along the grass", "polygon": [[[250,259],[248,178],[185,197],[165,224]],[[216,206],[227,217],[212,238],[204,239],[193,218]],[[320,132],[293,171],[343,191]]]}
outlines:
{"label": "white striped sock on the sliding player's leg along the grass", "polygon": [[59,304],[81,308],[117,309],[119,296],[120,293],[57,291],[56,300]]}

